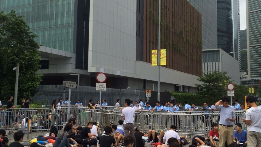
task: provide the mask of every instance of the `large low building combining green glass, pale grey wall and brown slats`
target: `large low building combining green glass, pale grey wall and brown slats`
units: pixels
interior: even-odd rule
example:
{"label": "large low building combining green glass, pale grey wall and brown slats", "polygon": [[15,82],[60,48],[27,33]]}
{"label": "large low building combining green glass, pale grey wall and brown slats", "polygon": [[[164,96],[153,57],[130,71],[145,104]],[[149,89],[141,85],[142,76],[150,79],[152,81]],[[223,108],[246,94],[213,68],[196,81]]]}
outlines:
{"label": "large low building combining green glass, pale grey wall and brown slats", "polygon": [[[161,49],[168,55],[160,67],[160,91],[194,93],[202,75],[201,14],[186,0],[161,7]],[[157,89],[151,50],[158,49],[158,1],[1,0],[0,9],[24,15],[37,34],[42,84],[77,81],[70,74],[79,74],[79,85],[95,86],[96,73],[104,72],[108,88]]]}

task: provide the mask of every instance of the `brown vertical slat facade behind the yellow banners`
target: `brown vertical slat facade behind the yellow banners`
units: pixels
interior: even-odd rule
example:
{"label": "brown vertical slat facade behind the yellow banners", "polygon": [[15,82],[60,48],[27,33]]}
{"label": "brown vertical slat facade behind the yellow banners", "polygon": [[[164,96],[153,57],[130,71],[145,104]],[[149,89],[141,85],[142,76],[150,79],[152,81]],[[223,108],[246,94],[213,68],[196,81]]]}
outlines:
{"label": "brown vertical slat facade behind the yellow banners", "polygon": [[[144,0],[143,61],[151,63],[158,50],[158,0]],[[167,49],[164,67],[202,75],[201,14],[187,0],[161,0],[161,49]]]}

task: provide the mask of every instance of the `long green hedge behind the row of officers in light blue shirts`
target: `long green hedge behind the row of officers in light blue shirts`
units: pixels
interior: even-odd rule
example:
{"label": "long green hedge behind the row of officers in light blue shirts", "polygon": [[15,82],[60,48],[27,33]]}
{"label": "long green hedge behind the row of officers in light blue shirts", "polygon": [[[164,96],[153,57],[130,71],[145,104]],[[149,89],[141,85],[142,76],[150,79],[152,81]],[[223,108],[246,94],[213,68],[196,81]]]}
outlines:
{"label": "long green hedge behind the row of officers in light blue shirts", "polygon": [[[177,92],[170,92],[173,97],[176,98],[177,102],[181,102],[182,104],[184,101],[187,101],[189,105],[195,103],[195,105],[203,105],[207,101],[205,97],[201,97],[198,94],[192,93],[177,93]],[[212,103],[208,103],[212,104]]]}

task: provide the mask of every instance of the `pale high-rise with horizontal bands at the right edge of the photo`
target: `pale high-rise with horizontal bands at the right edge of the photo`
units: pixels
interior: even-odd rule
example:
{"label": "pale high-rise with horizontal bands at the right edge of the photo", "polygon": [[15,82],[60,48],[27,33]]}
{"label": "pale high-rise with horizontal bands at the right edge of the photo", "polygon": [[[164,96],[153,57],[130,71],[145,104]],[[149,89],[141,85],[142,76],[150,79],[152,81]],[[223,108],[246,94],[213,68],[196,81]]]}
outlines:
{"label": "pale high-rise with horizontal bands at the right edge of the photo", "polygon": [[246,0],[248,77],[261,78],[261,0]]}

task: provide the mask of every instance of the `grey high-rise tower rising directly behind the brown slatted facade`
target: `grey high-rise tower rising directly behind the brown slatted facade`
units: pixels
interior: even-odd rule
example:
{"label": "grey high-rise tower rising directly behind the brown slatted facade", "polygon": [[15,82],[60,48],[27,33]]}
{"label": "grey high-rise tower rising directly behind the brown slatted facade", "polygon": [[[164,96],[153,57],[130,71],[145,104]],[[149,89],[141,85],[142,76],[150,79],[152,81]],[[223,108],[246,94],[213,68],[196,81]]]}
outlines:
{"label": "grey high-rise tower rising directly behind the brown slatted facade", "polygon": [[202,50],[217,48],[217,3],[216,0],[188,0],[201,13]]}

